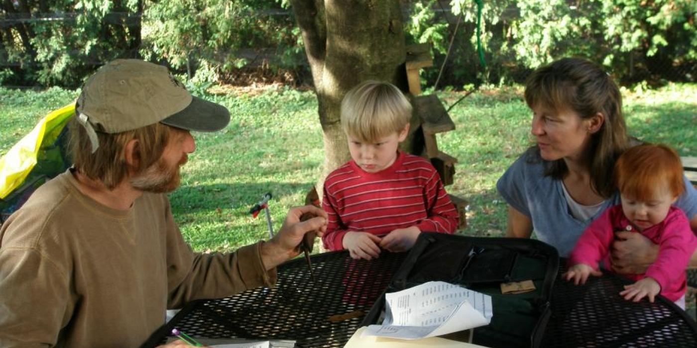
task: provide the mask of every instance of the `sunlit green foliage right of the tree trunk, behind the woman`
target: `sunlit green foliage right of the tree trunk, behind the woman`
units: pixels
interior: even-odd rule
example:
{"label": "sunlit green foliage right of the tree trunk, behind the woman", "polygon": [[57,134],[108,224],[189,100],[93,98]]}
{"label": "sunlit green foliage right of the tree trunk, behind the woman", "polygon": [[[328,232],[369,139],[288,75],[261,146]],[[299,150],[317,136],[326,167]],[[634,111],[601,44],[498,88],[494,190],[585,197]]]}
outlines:
{"label": "sunlit green foliage right of the tree trunk, behind the woman", "polygon": [[[484,1],[481,29],[487,68],[476,56],[475,1],[452,0],[450,5],[452,15],[436,15],[442,10],[438,1],[415,1],[405,26],[408,40],[433,43],[440,68],[460,16],[443,74],[446,83],[520,82],[530,70],[563,56],[602,63],[625,81],[644,79],[653,70],[671,79],[696,78],[682,73],[697,63],[694,1]],[[437,75],[438,69],[431,69],[422,77],[433,83]]]}

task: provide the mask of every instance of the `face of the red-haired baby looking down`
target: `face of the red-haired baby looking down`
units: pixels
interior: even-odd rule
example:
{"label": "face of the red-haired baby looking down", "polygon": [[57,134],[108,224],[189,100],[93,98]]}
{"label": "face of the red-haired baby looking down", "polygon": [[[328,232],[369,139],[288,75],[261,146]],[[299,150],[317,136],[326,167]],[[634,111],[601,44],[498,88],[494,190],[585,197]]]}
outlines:
{"label": "face of the red-haired baby looking down", "polygon": [[632,226],[643,231],[660,223],[668,215],[668,209],[675,203],[677,197],[668,189],[668,184],[658,185],[654,189],[653,197],[648,201],[636,200],[624,193],[622,197],[622,212],[629,219]]}

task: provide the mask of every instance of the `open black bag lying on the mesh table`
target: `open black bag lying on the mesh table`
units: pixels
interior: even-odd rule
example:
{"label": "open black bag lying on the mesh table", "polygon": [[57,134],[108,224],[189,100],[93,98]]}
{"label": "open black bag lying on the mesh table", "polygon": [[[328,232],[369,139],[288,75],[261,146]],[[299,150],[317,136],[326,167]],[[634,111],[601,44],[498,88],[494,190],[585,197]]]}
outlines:
{"label": "open black bag lying on the mesh table", "polygon": [[[473,330],[473,343],[487,347],[539,347],[551,315],[549,301],[559,268],[556,248],[535,239],[464,237],[424,232],[385,292],[431,280],[464,285],[491,296],[493,317]],[[501,294],[501,283],[533,280],[535,290]],[[378,323],[383,294],[361,326]]]}

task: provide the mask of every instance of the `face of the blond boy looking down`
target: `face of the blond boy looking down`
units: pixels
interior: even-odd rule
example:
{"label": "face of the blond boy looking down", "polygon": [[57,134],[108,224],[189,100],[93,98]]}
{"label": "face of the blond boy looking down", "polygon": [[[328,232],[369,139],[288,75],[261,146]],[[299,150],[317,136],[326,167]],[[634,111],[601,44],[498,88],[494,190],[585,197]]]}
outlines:
{"label": "face of the blond boy looking down", "polygon": [[351,158],[360,168],[367,173],[377,173],[388,168],[397,159],[397,147],[406,139],[409,125],[400,132],[392,133],[374,142],[366,143],[355,139],[351,134],[346,134],[348,139],[348,151]]}

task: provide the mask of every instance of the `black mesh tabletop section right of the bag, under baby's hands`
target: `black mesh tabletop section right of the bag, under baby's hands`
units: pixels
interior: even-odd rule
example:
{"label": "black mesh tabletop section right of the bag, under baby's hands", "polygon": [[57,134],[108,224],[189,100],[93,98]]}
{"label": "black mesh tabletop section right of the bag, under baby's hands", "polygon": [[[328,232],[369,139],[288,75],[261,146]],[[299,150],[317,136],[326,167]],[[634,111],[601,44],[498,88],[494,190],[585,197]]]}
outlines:
{"label": "black mesh tabletop section right of the bag, under baby's hands", "polygon": [[608,272],[583,286],[557,278],[542,347],[697,347],[687,313],[662,297],[629,303],[619,295],[625,284],[631,281]]}

